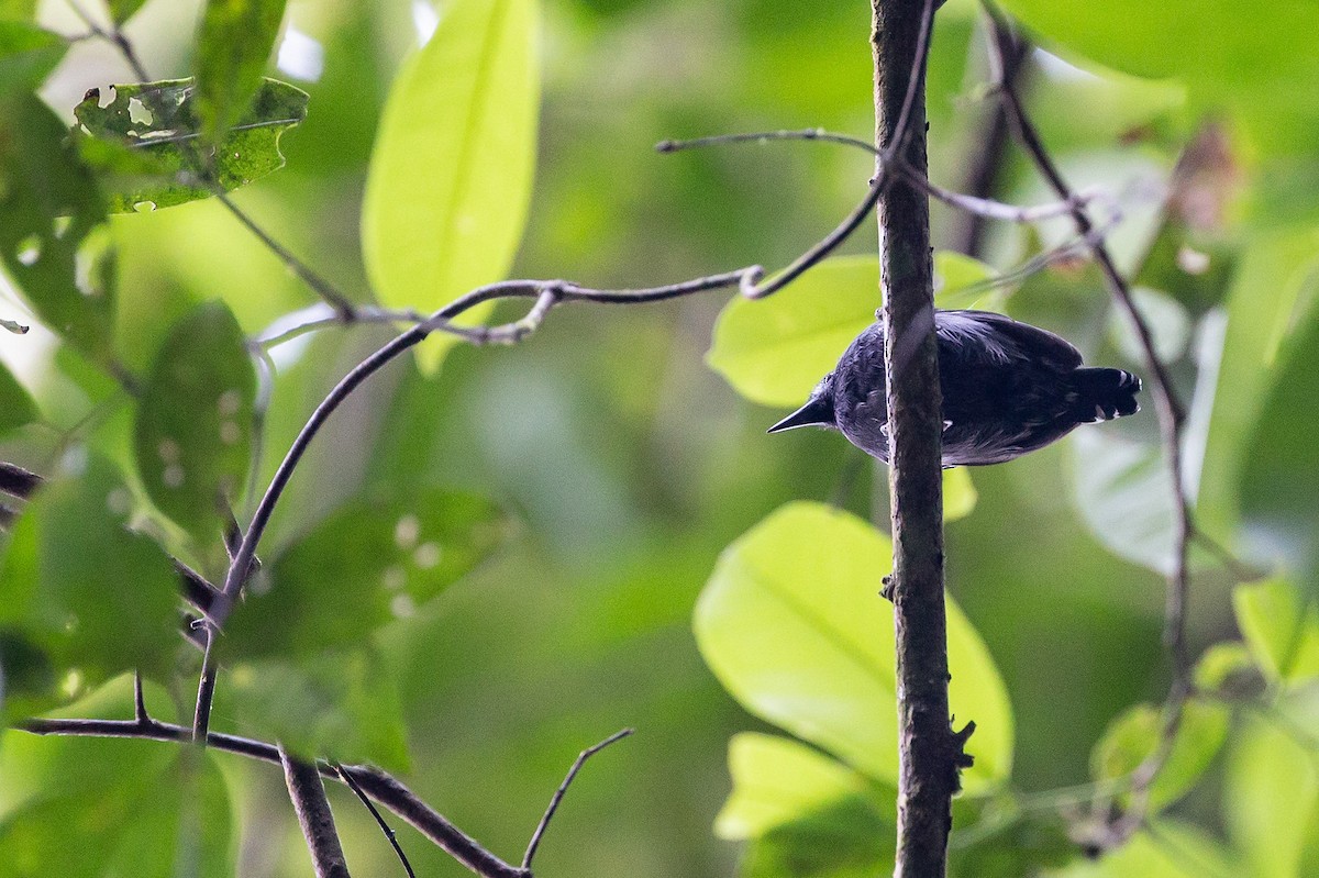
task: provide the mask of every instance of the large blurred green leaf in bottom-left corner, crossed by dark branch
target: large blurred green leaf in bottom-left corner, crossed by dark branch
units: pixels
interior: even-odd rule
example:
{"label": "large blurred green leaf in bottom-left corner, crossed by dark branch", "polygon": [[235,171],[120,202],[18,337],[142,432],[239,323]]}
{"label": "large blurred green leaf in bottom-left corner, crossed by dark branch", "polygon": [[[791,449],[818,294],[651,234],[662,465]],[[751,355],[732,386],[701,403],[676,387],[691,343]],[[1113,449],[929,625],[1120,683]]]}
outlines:
{"label": "large blurred green leaf in bottom-left corner, crossed by dark branch", "polygon": [[[170,704],[148,688],[148,704]],[[132,716],[119,678],[59,713]],[[232,875],[232,812],[211,758],[175,745],[7,732],[0,744],[0,877]],[[199,770],[198,770],[199,769]]]}

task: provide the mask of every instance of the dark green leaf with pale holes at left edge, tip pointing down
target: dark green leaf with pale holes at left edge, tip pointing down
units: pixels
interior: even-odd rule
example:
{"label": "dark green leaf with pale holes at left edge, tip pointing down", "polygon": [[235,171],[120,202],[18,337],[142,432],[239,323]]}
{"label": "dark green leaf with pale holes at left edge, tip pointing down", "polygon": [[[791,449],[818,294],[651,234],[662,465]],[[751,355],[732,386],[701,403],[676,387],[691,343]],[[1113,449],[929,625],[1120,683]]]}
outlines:
{"label": "dark green leaf with pale holes at left edge, tip pointing down", "polygon": [[[0,261],[51,331],[106,361],[113,330],[113,262],[96,183],[69,129],[36,95],[0,94]],[[96,235],[94,235],[96,232]]]}

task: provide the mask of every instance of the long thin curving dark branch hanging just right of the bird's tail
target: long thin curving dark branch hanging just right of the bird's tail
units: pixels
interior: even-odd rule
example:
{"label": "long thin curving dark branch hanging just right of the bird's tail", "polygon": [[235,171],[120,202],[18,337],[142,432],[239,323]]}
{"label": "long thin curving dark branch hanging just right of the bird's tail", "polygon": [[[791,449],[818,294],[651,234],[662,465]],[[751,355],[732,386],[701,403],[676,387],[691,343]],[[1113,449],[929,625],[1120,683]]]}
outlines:
{"label": "long thin curving dark branch hanging just right of the bird's tail", "polygon": [[[1012,32],[1008,20],[992,3],[985,4],[985,11],[989,15],[993,29],[991,59],[995,63],[995,80],[1013,133],[1017,136],[1030,161],[1059,198],[1068,198],[1071,190],[1067,182],[1058,171],[1057,163],[1039,138],[1039,132],[1031,123],[1014,83],[1005,75],[1012,53],[1022,50],[1018,46],[1021,41]],[[1080,207],[1072,211],[1072,220],[1082,235],[1088,235],[1093,231],[1093,224]],[[1167,763],[1169,755],[1171,755],[1173,744],[1182,725],[1186,701],[1192,692],[1191,662],[1186,643],[1186,604],[1190,592],[1187,552],[1191,538],[1195,534],[1195,525],[1191,517],[1190,498],[1182,485],[1182,403],[1177,398],[1167,369],[1154,348],[1153,334],[1132,301],[1130,286],[1121,272],[1117,270],[1103,239],[1093,240],[1089,249],[1100,272],[1104,274],[1113,301],[1119,306],[1119,310],[1126,315],[1126,319],[1136,331],[1136,337],[1145,355],[1146,366],[1150,370],[1151,393],[1159,421],[1159,435],[1163,444],[1163,454],[1167,457],[1177,527],[1173,568],[1167,576],[1167,605],[1165,610],[1163,639],[1173,659],[1173,683],[1163,704],[1163,728],[1159,734],[1158,746],[1132,775],[1132,805],[1109,824],[1107,836],[1100,840],[1101,845],[1107,848],[1125,842],[1144,824],[1150,784]]]}

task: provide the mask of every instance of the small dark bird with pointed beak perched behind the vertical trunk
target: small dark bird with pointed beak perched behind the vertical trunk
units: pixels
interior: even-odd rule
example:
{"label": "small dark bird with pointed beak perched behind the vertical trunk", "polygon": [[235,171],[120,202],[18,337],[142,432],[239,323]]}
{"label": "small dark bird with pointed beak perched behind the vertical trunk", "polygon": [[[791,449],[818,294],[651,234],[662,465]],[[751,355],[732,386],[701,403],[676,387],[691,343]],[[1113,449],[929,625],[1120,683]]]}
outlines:
{"label": "small dark bird with pointed beak perched behind the vertical trunk", "polygon": [[[935,311],[943,388],[943,465],[1004,463],[1062,439],[1083,423],[1140,411],[1141,380],[1082,365],[1053,332],[989,311]],[[806,405],[769,432],[818,424],[889,461],[884,323],[843,352]]]}

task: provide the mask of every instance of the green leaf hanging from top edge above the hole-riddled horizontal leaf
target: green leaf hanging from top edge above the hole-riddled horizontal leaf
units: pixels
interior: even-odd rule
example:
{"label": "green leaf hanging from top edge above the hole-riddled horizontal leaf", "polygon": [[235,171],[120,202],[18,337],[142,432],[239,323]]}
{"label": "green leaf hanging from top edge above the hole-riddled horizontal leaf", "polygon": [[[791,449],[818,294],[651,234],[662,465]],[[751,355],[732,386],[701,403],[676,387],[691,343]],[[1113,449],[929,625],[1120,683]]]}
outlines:
{"label": "green leaf hanging from top edge above the hole-riddled horizontal leaf", "polygon": [[206,1],[197,32],[195,61],[197,119],[203,145],[220,144],[226,129],[248,108],[274,49],[280,21],[284,20],[284,3]]}

